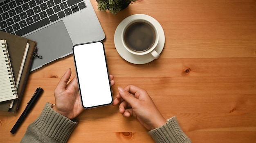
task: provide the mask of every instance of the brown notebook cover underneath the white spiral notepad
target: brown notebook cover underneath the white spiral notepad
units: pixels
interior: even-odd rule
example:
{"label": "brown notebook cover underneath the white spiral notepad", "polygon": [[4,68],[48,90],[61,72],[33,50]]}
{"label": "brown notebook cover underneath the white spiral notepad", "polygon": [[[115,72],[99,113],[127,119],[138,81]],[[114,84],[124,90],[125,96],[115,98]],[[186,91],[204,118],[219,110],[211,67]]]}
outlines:
{"label": "brown notebook cover underneath the white spiral notepad", "polygon": [[20,82],[17,89],[18,98],[14,100],[12,108],[9,108],[11,100],[0,102],[0,110],[16,113],[20,106],[20,102],[25,91],[27,79],[31,69],[33,54],[34,52],[36,52],[36,42],[25,37],[16,36],[2,31],[0,31],[0,39],[5,39],[7,41],[15,81],[17,81],[18,78],[18,73],[20,71],[20,66],[26,45],[27,43],[29,43],[27,57],[25,60],[25,64],[21,73]]}

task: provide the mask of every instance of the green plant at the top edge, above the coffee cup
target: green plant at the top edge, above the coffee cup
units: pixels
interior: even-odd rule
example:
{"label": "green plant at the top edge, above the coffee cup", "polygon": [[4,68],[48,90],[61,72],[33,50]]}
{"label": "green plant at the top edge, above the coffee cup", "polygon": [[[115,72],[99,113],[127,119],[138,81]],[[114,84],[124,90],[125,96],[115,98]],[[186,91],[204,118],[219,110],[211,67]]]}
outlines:
{"label": "green plant at the top edge, above the coffee cup", "polygon": [[125,9],[132,2],[136,0],[96,0],[98,2],[98,10],[106,11],[107,9],[113,13],[117,14],[119,11]]}

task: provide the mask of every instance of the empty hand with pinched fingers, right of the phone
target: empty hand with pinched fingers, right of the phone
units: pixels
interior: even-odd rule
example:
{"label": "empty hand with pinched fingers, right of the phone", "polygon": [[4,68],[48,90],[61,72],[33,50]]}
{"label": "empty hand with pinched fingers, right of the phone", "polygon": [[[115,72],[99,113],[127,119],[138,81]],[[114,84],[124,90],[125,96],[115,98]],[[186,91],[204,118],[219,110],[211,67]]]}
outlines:
{"label": "empty hand with pinched fingers, right of the phone", "polygon": [[118,87],[119,94],[112,105],[119,105],[119,112],[124,117],[133,117],[148,130],[153,130],[164,125],[167,121],[158,111],[147,91],[135,85]]}

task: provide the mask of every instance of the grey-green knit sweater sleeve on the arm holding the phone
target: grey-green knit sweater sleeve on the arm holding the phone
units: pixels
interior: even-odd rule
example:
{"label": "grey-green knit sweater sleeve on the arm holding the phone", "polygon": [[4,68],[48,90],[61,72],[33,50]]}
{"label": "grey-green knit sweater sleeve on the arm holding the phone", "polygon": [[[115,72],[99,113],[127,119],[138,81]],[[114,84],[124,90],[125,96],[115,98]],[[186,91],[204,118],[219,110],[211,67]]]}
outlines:
{"label": "grey-green knit sweater sleeve on the arm holding the phone", "polygon": [[31,123],[21,143],[65,143],[77,125],[67,117],[57,113],[46,103],[40,116]]}

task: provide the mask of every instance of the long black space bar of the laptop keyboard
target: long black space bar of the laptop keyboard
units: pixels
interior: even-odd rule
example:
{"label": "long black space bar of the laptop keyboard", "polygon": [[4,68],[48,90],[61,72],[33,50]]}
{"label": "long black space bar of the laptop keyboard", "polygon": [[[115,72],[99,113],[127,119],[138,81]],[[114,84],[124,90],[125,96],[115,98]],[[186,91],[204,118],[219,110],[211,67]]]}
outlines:
{"label": "long black space bar of the laptop keyboard", "polygon": [[25,34],[27,34],[29,32],[32,32],[32,31],[34,31],[34,30],[36,30],[38,28],[41,28],[41,27],[43,27],[43,26],[45,26],[45,25],[47,25],[49,23],[50,23],[50,20],[47,17],[47,18],[45,18],[43,20],[35,22],[34,24],[31,24],[31,25],[29,25],[29,26],[27,26],[25,28],[22,28],[22,29],[16,31],[16,35],[18,35],[18,36],[25,35]]}

